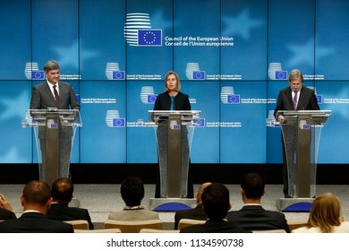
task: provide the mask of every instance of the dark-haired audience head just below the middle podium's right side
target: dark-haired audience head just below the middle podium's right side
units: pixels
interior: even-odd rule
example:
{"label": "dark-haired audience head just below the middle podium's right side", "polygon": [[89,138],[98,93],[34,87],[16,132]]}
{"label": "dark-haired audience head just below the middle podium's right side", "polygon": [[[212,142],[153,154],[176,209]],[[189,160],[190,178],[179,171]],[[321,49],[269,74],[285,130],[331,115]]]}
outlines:
{"label": "dark-haired audience head just below the middle podium's right side", "polygon": [[212,183],[207,186],[202,195],[202,208],[209,220],[219,221],[226,218],[231,205],[229,190],[220,183]]}

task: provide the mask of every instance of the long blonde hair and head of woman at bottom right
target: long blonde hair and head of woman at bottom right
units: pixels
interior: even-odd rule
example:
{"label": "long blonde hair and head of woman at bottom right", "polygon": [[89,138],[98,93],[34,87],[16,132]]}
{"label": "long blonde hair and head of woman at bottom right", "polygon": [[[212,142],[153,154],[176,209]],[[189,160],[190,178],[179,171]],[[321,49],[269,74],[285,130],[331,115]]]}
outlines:
{"label": "long blonde hair and head of woman at bottom right", "polygon": [[336,195],[326,193],[314,200],[309,213],[307,228],[318,227],[323,233],[331,233],[341,224],[341,203]]}

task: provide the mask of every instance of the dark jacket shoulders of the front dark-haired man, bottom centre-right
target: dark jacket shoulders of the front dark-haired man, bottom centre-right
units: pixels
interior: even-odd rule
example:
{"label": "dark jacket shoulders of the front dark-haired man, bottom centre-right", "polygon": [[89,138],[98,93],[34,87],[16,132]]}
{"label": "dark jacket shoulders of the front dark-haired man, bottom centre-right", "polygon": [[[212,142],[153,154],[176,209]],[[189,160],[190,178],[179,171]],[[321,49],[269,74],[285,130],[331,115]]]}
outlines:
{"label": "dark jacket shoulders of the front dark-haired man, bottom centre-right", "polygon": [[235,228],[227,221],[206,221],[204,224],[198,224],[181,229],[180,233],[251,233],[251,230]]}

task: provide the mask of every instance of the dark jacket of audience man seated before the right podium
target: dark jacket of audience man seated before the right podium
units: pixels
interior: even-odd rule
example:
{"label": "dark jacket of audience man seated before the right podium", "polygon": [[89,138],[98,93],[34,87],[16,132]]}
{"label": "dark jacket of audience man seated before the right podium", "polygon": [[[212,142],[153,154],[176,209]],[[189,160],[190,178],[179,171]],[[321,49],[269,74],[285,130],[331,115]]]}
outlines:
{"label": "dark jacket of audience man seated before the right podium", "polygon": [[285,229],[290,232],[284,213],[267,211],[260,205],[245,205],[239,211],[228,212],[227,219],[234,227],[243,229]]}

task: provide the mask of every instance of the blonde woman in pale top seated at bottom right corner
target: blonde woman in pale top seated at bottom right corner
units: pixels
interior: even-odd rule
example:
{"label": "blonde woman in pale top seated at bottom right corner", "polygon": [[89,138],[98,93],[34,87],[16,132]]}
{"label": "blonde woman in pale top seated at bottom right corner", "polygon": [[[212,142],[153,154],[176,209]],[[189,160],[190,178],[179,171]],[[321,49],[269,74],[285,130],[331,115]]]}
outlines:
{"label": "blonde woman in pale top seated at bottom right corner", "polygon": [[349,221],[341,217],[339,198],[331,193],[320,195],[314,200],[305,227],[293,233],[349,233]]}

